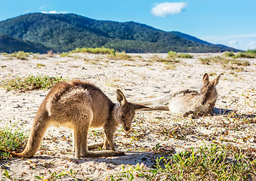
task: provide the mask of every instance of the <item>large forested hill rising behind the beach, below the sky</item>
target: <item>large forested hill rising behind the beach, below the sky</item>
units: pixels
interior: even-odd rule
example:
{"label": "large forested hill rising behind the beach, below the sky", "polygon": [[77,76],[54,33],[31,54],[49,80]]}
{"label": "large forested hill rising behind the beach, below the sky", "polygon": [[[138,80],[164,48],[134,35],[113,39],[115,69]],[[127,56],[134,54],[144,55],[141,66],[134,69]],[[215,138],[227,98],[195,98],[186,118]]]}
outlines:
{"label": "large forested hill rising behind the beach, below the sky", "polygon": [[180,32],[134,22],[92,20],[77,14],[25,14],[0,22],[0,33],[43,44],[53,51],[83,47],[134,53],[237,51]]}

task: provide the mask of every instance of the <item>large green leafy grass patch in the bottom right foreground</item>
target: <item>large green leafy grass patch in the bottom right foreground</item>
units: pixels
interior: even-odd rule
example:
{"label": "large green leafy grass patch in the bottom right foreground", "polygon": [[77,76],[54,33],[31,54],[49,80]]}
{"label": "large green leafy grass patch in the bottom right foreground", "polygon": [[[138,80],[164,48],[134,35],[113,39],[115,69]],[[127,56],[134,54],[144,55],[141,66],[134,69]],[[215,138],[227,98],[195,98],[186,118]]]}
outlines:
{"label": "large green leafy grass patch in the bottom right foreground", "polygon": [[254,180],[256,160],[242,149],[230,146],[202,146],[198,151],[178,152],[171,157],[157,158],[154,168],[144,164],[123,168],[111,180]]}

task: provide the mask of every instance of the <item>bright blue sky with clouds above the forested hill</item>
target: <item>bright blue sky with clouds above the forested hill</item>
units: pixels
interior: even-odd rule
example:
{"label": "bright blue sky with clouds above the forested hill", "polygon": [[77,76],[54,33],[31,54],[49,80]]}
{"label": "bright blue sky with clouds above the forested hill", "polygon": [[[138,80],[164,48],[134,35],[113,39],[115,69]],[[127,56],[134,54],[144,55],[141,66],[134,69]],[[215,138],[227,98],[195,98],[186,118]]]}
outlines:
{"label": "bright blue sky with clouds above the forested hill", "polygon": [[214,44],[256,49],[255,0],[2,0],[0,20],[21,14],[74,13],[96,20],[134,21]]}

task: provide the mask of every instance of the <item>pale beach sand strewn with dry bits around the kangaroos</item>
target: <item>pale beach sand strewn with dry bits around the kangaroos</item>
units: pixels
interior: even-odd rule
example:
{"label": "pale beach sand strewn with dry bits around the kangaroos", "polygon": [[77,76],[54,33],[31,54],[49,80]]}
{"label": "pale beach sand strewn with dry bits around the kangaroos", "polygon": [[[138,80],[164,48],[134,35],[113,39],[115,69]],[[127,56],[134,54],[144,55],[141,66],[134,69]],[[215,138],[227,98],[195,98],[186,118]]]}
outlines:
{"label": "pale beach sand strewn with dry bits around the kangaroos", "polygon": [[[113,158],[74,158],[72,131],[51,126],[33,158],[0,161],[2,174],[5,168],[15,179],[35,180],[35,176],[48,179],[54,172],[72,170],[76,172],[73,174],[75,178],[105,180],[110,179],[111,174],[121,173],[122,167],[127,169],[137,163],[153,167],[155,159],[161,156],[154,151],[156,146],[169,149],[165,156],[212,143],[256,150],[256,59],[242,59],[251,66],[239,66],[242,71],[238,71],[217,63],[203,65],[198,60],[199,57],[221,54],[193,54],[193,59],[180,59],[174,66],[156,61],[167,54],[129,55],[132,60],[109,60],[106,55],[95,54],[70,54],[71,57],[32,54],[28,60],[10,60],[10,57],[0,55],[0,81],[29,75],[79,78],[96,84],[116,103],[117,88],[132,102],[159,97],[180,88],[199,90],[204,73],[207,72],[211,80],[224,74],[217,84],[215,115],[193,119],[168,111],[138,111],[133,130],[125,133],[120,126],[114,138],[116,150],[126,155]],[[35,112],[48,91],[20,93],[1,87],[0,126],[19,128],[28,134]],[[231,113],[235,116],[225,115],[227,112],[235,112]],[[175,130],[177,137],[171,137],[163,130]],[[102,129],[91,130],[88,142],[102,141]],[[72,180],[70,175],[58,179]]]}

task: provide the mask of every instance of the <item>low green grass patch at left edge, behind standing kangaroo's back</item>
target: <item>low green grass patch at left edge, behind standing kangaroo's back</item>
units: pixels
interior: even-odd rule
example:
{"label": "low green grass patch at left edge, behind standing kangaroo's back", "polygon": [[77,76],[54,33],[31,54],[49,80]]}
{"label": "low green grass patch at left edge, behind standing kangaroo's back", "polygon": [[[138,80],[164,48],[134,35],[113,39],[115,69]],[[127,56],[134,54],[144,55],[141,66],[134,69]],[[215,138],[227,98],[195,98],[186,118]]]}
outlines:
{"label": "low green grass patch at left edge, behind standing kangaroo's back", "polygon": [[60,81],[65,81],[60,77],[49,76],[29,76],[26,78],[11,78],[3,81],[0,86],[5,87],[7,90],[17,90],[20,92],[26,92],[29,90],[43,90],[52,87],[54,84]]}

